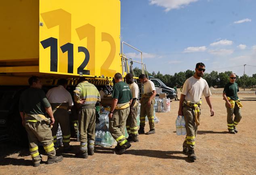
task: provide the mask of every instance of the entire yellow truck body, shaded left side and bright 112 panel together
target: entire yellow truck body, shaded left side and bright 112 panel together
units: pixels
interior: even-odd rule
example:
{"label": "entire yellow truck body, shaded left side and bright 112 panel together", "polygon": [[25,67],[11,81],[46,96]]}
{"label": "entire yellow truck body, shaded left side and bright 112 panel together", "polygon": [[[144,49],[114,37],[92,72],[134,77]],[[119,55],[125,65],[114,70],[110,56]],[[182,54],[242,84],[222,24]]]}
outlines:
{"label": "entire yellow truck body, shaded left side and bright 112 panel together", "polygon": [[12,0],[0,11],[1,85],[122,73],[120,0]]}

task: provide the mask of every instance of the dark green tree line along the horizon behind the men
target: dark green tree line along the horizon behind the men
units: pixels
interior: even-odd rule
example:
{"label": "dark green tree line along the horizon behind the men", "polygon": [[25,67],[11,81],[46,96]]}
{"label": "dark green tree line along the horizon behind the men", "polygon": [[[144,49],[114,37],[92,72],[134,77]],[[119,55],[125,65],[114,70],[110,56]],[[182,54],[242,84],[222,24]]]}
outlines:
{"label": "dark green tree line along the horizon behind the men", "polygon": [[[139,76],[141,74],[141,69],[138,67],[133,69],[134,75]],[[195,71],[193,70],[186,70],[185,72],[178,72],[174,75],[169,74],[161,74],[159,71],[155,73],[153,71],[152,73],[147,72],[149,76],[153,76],[154,78],[160,79],[166,86],[168,87],[174,87],[175,84],[178,84],[178,87],[183,85],[185,80],[195,74]],[[222,88],[229,82],[229,75],[232,73],[232,71],[225,71],[218,73],[217,71],[212,71],[210,73],[204,73],[204,79],[208,82],[209,86],[213,86],[214,88]],[[237,79],[236,82],[239,87],[244,86],[244,82],[247,88],[252,88],[256,86],[256,74],[252,74],[252,76],[244,75],[244,76],[238,76],[236,75]]]}

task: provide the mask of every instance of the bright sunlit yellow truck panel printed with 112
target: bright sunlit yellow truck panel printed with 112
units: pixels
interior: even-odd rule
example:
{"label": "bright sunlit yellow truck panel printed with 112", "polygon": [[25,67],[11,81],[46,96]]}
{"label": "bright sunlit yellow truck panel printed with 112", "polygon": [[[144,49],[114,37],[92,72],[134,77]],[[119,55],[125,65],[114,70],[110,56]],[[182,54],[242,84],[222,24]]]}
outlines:
{"label": "bright sunlit yellow truck panel printed with 112", "polygon": [[113,77],[122,71],[120,0],[40,0],[39,71]]}

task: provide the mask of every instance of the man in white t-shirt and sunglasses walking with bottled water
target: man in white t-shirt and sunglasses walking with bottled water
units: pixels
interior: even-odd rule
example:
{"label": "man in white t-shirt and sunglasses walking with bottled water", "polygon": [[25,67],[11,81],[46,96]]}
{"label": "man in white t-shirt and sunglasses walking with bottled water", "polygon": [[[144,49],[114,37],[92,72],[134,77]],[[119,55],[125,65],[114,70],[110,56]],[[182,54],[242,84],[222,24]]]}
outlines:
{"label": "man in white t-shirt and sunglasses walking with bottled water", "polygon": [[195,74],[188,78],[180,95],[180,105],[178,115],[184,116],[186,121],[187,136],[183,142],[183,153],[188,155],[189,160],[196,160],[195,136],[197,134],[197,126],[199,125],[199,116],[201,114],[201,95],[204,94],[206,102],[210,107],[211,116],[214,115],[214,110],[210,101],[210,89],[205,79],[201,78],[204,75],[205,65],[197,63]]}

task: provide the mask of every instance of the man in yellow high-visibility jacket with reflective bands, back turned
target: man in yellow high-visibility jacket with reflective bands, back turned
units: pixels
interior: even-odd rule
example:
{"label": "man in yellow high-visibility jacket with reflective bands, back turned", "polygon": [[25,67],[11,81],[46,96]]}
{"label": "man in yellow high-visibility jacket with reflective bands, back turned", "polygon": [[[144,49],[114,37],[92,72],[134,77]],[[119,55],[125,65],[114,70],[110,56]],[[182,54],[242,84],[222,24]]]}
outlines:
{"label": "man in yellow high-visibility jacket with reflective bands, back turned", "polygon": [[85,78],[79,78],[80,83],[74,91],[74,101],[78,103],[78,128],[80,139],[80,152],[75,156],[78,158],[88,158],[94,154],[95,142],[95,104],[101,101],[97,88],[86,81]]}

